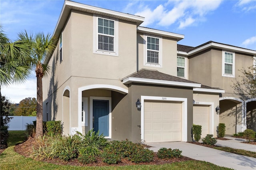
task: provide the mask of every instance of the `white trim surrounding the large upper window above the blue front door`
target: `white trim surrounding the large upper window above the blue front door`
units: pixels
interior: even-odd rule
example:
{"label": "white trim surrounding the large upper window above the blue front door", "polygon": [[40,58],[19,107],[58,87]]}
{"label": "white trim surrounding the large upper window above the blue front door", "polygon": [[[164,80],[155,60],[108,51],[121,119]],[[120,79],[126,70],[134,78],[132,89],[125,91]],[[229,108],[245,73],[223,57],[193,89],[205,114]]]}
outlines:
{"label": "white trim surrounding the large upper window above the blue front door", "polygon": [[[98,49],[98,18],[104,18],[106,20],[113,20],[115,23],[114,28],[114,52]],[[106,16],[93,15],[93,53],[102,55],[118,56],[118,19],[110,18]]]}

